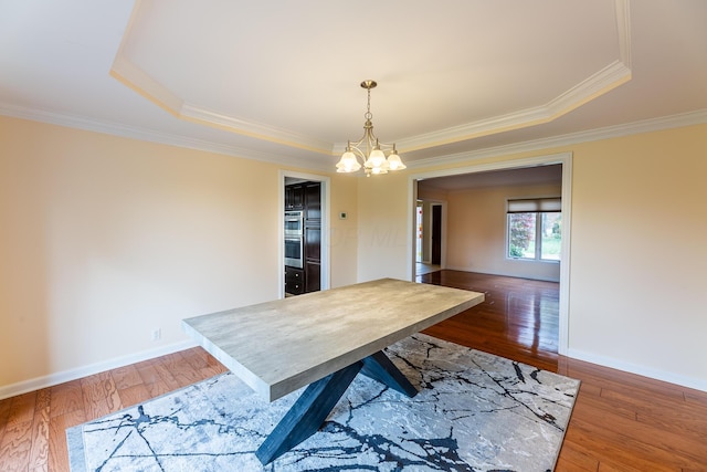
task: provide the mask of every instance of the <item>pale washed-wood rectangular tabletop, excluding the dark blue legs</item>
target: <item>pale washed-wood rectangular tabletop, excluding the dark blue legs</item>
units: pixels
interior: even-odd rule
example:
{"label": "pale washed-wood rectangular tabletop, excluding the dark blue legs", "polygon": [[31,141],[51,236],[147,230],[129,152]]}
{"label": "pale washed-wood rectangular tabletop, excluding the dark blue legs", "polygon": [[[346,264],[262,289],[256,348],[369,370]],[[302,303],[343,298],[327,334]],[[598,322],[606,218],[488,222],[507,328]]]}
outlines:
{"label": "pale washed-wood rectangular tabletop, excluding the dark blue legs", "polygon": [[484,294],[381,279],[182,322],[273,401],[484,301]]}

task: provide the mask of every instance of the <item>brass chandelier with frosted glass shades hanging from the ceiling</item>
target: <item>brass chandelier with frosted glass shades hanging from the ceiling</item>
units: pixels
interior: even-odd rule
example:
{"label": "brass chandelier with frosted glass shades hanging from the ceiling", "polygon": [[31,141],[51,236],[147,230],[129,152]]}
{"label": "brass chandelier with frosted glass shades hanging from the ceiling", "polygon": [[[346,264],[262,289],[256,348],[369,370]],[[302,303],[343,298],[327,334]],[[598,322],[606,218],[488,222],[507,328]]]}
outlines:
{"label": "brass chandelier with frosted glass shades hanging from the ceiling", "polygon": [[[401,170],[407,167],[398,156],[395,144],[380,143],[373,134],[371,88],[374,88],[376,85],[378,85],[376,81],[361,82],[361,87],[368,91],[368,109],[363,115],[366,118],[363,137],[356,143],[348,141],[346,150],[341,155],[341,160],[336,165],[337,172],[356,172],[361,168],[361,162],[363,162],[366,177],[371,174],[388,174],[389,170]],[[389,151],[388,158],[386,158],[384,151]],[[359,158],[361,159],[360,162]]]}

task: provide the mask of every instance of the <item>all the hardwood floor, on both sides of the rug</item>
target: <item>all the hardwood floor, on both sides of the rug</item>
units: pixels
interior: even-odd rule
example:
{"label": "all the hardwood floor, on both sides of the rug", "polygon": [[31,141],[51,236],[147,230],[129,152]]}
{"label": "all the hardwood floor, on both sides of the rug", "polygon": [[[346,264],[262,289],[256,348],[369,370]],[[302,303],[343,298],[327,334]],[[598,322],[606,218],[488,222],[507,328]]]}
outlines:
{"label": "all the hardwood floor, on both sides of the rug", "polygon": [[[426,333],[582,380],[557,471],[707,471],[707,394],[557,354],[558,284],[441,271],[486,293]],[[0,401],[0,471],[68,471],[65,429],[223,373],[201,348]]]}

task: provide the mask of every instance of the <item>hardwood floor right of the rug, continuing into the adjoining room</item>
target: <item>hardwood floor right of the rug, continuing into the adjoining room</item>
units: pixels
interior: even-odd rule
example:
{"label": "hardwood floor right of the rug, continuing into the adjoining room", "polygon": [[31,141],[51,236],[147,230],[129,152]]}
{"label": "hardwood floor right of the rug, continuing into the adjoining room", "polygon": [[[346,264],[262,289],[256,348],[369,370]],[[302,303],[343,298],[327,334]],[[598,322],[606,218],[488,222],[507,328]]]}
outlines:
{"label": "hardwood floor right of the rug, continuing into the adjoining room", "polygon": [[425,333],[582,381],[557,471],[707,471],[707,394],[557,354],[558,284],[455,271],[486,301]]}

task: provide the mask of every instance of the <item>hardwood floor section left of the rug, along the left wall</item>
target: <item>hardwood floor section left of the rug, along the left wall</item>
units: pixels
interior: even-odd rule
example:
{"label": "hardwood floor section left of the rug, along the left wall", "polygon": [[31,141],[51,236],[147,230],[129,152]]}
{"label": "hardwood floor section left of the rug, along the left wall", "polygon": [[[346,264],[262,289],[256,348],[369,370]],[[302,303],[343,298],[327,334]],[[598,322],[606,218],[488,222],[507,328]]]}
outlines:
{"label": "hardwood floor section left of the rug, along the left wall", "polygon": [[0,471],[68,471],[66,428],[226,369],[201,348],[0,401]]}

